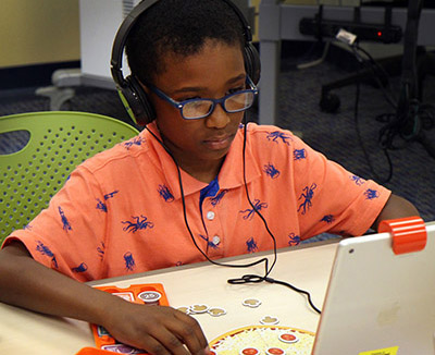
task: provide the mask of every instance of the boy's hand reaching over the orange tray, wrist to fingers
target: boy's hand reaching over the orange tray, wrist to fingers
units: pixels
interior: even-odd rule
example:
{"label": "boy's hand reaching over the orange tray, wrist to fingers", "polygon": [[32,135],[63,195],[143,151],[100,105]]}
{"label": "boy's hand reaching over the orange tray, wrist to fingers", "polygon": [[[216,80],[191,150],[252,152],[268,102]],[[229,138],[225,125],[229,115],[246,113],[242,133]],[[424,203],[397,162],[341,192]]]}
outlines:
{"label": "boy's hand reaching over the orange tray, wrist to fingers", "polygon": [[102,326],[117,341],[154,355],[209,355],[208,342],[196,319],[171,307],[113,297],[113,307],[103,316],[107,321]]}

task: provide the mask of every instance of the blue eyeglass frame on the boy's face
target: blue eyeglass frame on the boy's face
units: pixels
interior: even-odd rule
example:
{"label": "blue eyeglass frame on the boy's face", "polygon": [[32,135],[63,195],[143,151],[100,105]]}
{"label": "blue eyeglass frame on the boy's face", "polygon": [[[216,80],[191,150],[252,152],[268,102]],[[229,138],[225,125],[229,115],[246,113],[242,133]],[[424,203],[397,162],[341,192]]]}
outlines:
{"label": "blue eyeglass frame on the boy's face", "polygon": [[[236,112],[241,112],[241,111],[246,111],[247,109],[249,109],[249,108],[252,106],[252,103],[253,103],[253,101],[254,101],[254,99],[256,99],[256,96],[258,95],[259,90],[258,90],[256,84],[253,84],[253,82],[251,81],[251,78],[250,78],[249,76],[246,76],[246,83],[251,87],[250,89],[236,91],[236,93],[226,95],[226,96],[224,96],[224,97],[221,97],[220,99],[212,99],[212,98],[209,99],[209,98],[204,98],[204,99],[188,99],[188,100],[184,100],[184,101],[175,101],[173,98],[169,97],[166,94],[164,94],[161,89],[159,89],[158,87],[156,87],[156,86],[152,85],[152,84],[146,84],[146,86],[147,86],[152,93],[154,93],[158,97],[160,97],[162,100],[164,100],[164,101],[171,103],[173,107],[175,107],[176,109],[178,109],[178,110],[179,110],[179,113],[182,114],[182,118],[183,118],[184,120],[200,120],[200,119],[204,119],[204,118],[209,117],[210,114],[212,114],[217,103],[221,105],[222,109],[223,109],[226,113],[236,113]],[[243,109],[236,110],[236,111],[228,111],[228,110],[226,110],[224,102],[225,102],[229,97],[235,96],[235,95],[240,95],[240,94],[244,94],[244,93],[252,93],[252,94],[253,94],[253,98],[254,98],[254,99],[252,100],[251,106],[248,106],[247,108],[243,108]],[[212,106],[211,106],[211,108],[210,108],[210,111],[209,111],[207,114],[203,114],[203,115],[198,117],[198,118],[186,118],[186,117],[184,117],[184,114],[183,114],[183,108],[184,108],[187,103],[192,102],[192,101],[212,101],[213,103],[212,103]]]}

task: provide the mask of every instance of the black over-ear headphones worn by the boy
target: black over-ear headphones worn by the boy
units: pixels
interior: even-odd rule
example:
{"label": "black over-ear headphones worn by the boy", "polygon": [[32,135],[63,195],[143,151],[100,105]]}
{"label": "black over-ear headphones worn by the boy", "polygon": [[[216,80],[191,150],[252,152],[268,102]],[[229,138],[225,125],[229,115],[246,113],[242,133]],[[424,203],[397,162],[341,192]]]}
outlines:
{"label": "black over-ear headphones worn by the boy", "polygon": [[[124,47],[127,41],[128,34],[133,28],[136,20],[140,14],[151,8],[159,0],[144,0],[125,17],[121,24],[112,47],[111,72],[113,81],[116,84],[116,89],[120,95],[121,101],[126,108],[132,120],[139,124],[146,125],[156,118],[154,109],[151,101],[148,99],[147,94],[144,91],[140,83],[134,75],[124,77],[122,72],[122,60]],[[222,0],[227,3],[240,19],[244,26],[245,48],[244,61],[245,70],[254,84],[260,79],[260,56],[252,45],[251,27],[246,21],[240,10],[231,1]]]}

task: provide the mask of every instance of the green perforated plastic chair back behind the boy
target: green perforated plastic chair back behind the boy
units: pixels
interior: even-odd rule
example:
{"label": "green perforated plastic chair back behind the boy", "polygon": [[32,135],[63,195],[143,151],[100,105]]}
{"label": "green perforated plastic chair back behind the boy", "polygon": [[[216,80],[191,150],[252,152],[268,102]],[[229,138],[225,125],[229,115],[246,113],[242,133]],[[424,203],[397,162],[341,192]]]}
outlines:
{"label": "green perforated plastic chair back behind the boy", "polygon": [[12,136],[29,137],[20,151],[0,151],[0,244],[48,206],[77,164],[138,133],[127,123],[87,112],[0,117],[3,145],[13,145]]}

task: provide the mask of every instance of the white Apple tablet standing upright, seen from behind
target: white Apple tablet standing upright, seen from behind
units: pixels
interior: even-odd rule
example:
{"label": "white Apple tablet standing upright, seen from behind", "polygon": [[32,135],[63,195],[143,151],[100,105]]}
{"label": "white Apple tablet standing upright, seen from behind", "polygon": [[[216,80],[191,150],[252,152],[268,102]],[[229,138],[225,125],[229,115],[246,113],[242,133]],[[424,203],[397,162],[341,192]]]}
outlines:
{"label": "white Apple tablet standing upright, seen from behind", "polygon": [[339,243],[313,355],[435,354],[435,224],[425,228],[420,252],[396,255],[390,233]]}

